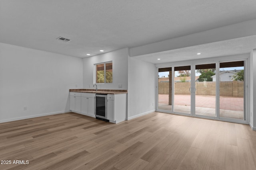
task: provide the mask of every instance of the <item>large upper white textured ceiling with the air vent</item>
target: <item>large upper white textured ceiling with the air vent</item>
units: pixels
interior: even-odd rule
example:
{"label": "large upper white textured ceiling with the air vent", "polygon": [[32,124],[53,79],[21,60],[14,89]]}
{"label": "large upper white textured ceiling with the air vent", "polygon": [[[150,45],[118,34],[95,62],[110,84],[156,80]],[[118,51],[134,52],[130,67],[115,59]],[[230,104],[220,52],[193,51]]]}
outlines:
{"label": "large upper white textured ceiling with the air vent", "polygon": [[256,19],[255,9],[256,0],[0,0],[0,42],[83,58]]}

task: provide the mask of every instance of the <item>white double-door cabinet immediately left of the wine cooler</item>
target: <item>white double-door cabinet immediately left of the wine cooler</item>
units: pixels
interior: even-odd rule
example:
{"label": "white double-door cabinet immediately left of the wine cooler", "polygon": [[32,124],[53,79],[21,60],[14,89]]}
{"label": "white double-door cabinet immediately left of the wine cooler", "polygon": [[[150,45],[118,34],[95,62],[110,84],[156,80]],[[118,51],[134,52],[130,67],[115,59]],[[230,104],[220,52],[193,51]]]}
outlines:
{"label": "white double-door cabinet immediately left of the wine cooler", "polygon": [[93,93],[82,93],[81,113],[83,115],[89,115],[89,116],[95,117],[94,98],[95,98],[95,94]]}

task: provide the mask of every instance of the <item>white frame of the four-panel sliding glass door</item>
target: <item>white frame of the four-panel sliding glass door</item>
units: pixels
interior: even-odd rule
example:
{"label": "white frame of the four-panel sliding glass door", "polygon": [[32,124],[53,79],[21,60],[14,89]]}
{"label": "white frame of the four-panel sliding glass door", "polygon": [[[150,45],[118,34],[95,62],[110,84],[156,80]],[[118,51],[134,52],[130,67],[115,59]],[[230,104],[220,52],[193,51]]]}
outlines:
{"label": "white frame of the four-panel sliding glass door", "polygon": [[[240,58],[234,58],[234,59],[229,59],[228,57],[216,57],[216,60],[207,60],[204,59],[202,61],[194,60],[194,61],[188,61],[188,62],[180,62],[183,64],[164,64],[164,66],[157,66],[156,65],[156,111],[159,112],[164,112],[164,113],[173,113],[177,115],[186,115],[186,116],[192,116],[192,117],[199,117],[199,118],[206,118],[206,119],[214,119],[214,120],[220,120],[220,121],[228,121],[228,122],[234,122],[234,123],[244,123],[244,124],[249,124],[249,93],[248,93],[248,86],[249,86],[249,64],[248,64],[248,59],[249,57],[240,57]],[[240,119],[232,119],[232,118],[226,118],[226,117],[220,117],[220,63],[225,63],[225,62],[234,62],[234,61],[244,61],[244,119],[245,120],[240,120]],[[195,88],[195,72],[196,72],[196,65],[199,64],[213,64],[216,63],[216,107],[215,107],[215,112],[216,112],[216,117],[210,117],[210,116],[205,116],[205,115],[196,115],[195,113],[195,92],[192,90],[191,92],[191,112],[190,114],[188,113],[180,113],[180,112],[175,112],[174,111],[174,67],[176,66],[191,66],[191,88]],[[172,67],[172,110],[163,110],[158,108],[158,68],[165,68],[165,67]]]}

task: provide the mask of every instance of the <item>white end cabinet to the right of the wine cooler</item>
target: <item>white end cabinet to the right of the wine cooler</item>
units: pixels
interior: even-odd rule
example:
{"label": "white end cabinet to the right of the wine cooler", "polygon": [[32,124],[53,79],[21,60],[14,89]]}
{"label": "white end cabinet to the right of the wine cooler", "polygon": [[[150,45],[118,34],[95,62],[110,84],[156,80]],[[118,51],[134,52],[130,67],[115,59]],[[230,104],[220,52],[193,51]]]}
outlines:
{"label": "white end cabinet to the right of the wine cooler", "polygon": [[107,119],[119,123],[127,119],[126,94],[108,94]]}

